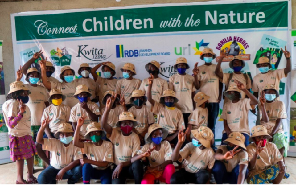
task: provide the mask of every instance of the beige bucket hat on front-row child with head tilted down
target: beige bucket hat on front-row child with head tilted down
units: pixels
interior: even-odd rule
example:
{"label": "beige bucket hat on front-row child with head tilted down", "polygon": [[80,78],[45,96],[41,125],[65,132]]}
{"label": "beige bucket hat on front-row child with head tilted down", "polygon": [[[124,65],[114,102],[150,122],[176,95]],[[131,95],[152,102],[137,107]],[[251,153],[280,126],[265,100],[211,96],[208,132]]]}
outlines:
{"label": "beige bucket hat on front-row child with head tilted down", "polygon": [[206,148],[211,148],[211,141],[214,138],[212,130],[206,126],[191,130],[192,135]]}

